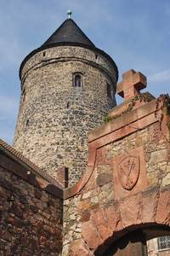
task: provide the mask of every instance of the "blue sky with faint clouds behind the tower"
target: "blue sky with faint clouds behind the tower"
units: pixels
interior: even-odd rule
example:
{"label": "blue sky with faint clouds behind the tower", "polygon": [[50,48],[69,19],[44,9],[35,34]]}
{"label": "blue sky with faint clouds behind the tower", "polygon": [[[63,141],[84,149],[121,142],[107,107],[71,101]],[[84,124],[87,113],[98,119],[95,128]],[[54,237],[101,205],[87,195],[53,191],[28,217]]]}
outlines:
{"label": "blue sky with faint clouds behind the tower", "polygon": [[119,80],[133,68],[147,76],[150,93],[170,93],[169,0],[0,0],[0,137],[8,143],[19,108],[20,62],[66,19],[67,9],[116,61]]}

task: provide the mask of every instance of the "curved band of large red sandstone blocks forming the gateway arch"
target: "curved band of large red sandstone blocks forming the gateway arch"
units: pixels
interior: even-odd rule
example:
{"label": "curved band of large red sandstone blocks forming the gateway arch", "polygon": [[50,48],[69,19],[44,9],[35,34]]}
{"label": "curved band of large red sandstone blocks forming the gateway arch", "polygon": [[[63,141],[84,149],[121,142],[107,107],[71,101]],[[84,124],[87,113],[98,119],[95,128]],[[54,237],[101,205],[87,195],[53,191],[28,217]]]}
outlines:
{"label": "curved band of large red sandstone blocks forming the gateway arch", "polygon": [[170,227],[169,212],[169,186],[146,190],[91,212],[90,219],[82,223],[82,238],[91,251],[98,252],[129,231],[150,225]]}

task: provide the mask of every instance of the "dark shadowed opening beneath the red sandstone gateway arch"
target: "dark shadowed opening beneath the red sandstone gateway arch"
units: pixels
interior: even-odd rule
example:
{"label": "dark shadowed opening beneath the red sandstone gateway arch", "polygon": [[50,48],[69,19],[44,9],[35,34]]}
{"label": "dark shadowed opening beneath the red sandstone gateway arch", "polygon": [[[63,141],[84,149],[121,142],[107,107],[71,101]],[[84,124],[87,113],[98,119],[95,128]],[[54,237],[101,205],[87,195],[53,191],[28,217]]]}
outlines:
{"label": "dark shadowed opening beneath the red sandstone gateway arch", "polygon": [[139,227],[131,227],[110,237],[108,241],[105,241],[105,244],[95,251],[94,255],[147,256],[149,255],[147,241],[160,236],[170,236],[170,228],[158,224],[144,224]]}

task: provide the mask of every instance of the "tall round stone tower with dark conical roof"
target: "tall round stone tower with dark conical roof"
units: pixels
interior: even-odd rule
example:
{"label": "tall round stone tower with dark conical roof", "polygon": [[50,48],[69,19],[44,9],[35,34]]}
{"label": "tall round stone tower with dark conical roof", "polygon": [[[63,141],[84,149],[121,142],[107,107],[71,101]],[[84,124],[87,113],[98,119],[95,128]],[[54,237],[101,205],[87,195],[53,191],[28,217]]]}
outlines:
{"label": "tall round stone tower with dark conical roof", "polygon": [[20,111],[14,148],[48,174],[69,169],[70,185],[88,159],[88,130],[116,105],[115,62],[67,19],[20,66]]}

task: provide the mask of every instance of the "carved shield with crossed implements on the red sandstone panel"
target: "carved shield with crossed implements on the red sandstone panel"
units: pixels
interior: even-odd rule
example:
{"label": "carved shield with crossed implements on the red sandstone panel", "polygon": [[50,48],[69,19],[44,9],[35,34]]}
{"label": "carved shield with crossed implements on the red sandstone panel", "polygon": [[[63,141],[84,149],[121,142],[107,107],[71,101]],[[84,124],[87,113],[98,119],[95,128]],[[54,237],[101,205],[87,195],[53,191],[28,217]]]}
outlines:
{"label": "carved shield with crossed implements on the red sandstone panel", "polygon": [[131,190],[139,179],[139,157],[127,156],[118,165],[118,177],[122,188]]}

